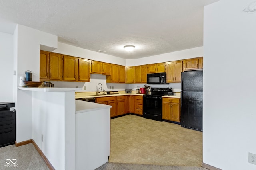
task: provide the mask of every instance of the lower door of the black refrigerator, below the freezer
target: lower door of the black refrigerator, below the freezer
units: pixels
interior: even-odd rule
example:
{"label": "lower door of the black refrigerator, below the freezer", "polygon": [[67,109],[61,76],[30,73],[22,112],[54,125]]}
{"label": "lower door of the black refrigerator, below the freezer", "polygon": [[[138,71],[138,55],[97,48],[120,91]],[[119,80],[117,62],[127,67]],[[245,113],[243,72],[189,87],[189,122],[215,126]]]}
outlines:
{"label": "lower door of the black refrigerator, below the freezer", "polygon": [[202,131],[203,122],[203,92],[183,91],[180,113],[182,127]]}

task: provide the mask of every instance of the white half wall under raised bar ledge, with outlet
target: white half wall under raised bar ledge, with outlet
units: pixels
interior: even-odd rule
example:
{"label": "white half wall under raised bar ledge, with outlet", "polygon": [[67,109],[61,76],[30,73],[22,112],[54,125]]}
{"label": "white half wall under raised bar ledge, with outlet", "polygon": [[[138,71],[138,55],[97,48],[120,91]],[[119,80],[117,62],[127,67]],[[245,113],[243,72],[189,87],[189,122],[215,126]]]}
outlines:
{"label": "white half wall under raised bar ledge, with outlet", "polygon": [[74,169],[74,91],[32,93],[33,140],[56,170]]}

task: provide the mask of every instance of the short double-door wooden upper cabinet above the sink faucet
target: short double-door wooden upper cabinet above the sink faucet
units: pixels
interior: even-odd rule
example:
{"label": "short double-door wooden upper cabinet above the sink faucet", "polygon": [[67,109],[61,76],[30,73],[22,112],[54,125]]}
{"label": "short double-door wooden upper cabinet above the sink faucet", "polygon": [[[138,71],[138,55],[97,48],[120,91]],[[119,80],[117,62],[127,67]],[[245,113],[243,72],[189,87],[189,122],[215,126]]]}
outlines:
{"label": "short double-door wooden upper cabinet above the sink faucet", "polygon": [[92,74],[110,75],[110,73],[111,73],[111,64],[92,60],[91,73]]}

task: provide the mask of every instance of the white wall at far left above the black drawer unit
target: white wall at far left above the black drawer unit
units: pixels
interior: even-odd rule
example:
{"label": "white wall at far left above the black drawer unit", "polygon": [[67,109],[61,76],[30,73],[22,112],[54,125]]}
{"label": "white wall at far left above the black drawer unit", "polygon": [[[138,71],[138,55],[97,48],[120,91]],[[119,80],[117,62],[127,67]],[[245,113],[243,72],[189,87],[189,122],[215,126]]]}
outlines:
{"label": "white wall at far left above the black drawer unit", "polygon": [[13,36],[0,32],[0,102],[13,102]]}

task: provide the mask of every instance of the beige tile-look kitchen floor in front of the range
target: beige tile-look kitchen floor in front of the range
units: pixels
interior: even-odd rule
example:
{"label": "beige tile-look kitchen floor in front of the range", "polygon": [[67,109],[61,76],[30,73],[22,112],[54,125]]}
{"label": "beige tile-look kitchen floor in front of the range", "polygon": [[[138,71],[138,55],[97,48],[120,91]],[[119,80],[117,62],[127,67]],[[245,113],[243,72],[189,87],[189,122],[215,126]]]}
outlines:
{"label": "beige tile-look kitchen floor in front of the range", "polygon": [[111,119],[109,162],[201,166],[202,132],[126,115]]}

